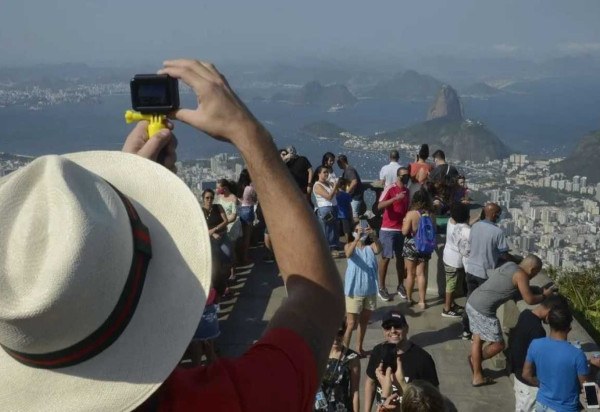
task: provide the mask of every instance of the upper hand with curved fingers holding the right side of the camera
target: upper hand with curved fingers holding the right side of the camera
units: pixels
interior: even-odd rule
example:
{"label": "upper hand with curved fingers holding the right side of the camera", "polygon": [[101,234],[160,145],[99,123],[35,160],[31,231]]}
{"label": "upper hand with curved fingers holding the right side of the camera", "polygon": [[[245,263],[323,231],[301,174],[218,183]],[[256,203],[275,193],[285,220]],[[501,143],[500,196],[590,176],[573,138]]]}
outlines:
{"label": "upper hand with curved fingers holding the right side of the camera", "polygon": [[179,59],[167,60],[163,65],[159,74],[181,79],[198,97],[196,109],[179,109],[174,113],[177,120],[232,143],[237,138],[243,138],[248,128],[262,129],[258,120],[231,90],[225,77],[211,63]]}

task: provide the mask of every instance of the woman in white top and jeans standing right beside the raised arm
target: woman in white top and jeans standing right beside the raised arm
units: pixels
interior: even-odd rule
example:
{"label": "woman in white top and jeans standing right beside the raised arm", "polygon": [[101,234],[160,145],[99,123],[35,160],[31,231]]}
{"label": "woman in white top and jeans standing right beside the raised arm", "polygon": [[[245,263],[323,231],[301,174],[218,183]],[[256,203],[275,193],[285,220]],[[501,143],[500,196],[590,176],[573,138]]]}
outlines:
{"label": "woman in white top and jeans standing right beside the raised arm", "polygon": [[329,182],[328,167],[317,167],[315,175],[317,176],[317,181],[313,185],[313,193],[317,202],[317,216],[327,238],[329,249],[331,249],[335,257],[338,257],[339,235],[337,233],[337,202],[335,194],[339,183]]}

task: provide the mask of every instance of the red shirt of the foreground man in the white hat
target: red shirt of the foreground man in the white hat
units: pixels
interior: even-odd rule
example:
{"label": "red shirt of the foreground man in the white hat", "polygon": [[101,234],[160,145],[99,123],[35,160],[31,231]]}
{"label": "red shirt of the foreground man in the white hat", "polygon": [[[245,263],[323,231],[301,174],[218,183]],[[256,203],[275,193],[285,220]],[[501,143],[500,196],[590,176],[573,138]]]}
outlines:
{"label": "red shirt of the foreground man in the white hat", "polygon": [[[272,329],[244,355],[208,367],[176,368],[159,389],[158,412],[312,411],[317,366],[306,342]],[[152,410],[147,401],[140,411]]]}

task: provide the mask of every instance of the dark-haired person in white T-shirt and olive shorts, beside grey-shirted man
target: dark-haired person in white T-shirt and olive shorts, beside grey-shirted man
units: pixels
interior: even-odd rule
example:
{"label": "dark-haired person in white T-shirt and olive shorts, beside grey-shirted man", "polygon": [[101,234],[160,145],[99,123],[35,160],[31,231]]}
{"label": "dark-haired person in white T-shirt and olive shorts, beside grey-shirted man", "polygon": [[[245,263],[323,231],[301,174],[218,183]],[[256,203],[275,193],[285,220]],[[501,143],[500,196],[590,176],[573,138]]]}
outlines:
{"label": "dark-haired person in white T-shirt and olive shorts, beside grey-shirted man", "polygon": [[465,278],[464,259],[469,255],[469,206],[454,203],[450,208],[450,219],[446,229],[444,246],[444,270],[446,271],[446,299],[442,316],[445,318],[462,317],[463,308],[454,302],[457,291]]}

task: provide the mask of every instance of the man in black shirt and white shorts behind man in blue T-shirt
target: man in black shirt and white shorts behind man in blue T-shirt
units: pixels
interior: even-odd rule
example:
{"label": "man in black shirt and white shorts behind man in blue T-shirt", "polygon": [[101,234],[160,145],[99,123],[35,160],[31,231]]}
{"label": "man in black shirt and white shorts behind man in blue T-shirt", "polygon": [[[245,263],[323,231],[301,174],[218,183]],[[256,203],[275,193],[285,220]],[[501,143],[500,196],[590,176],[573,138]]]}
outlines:
{"label": "man in black shirt and white shorts behind man in blue T-shirt", "polygon": [[515,411],[534,412],[535,410],[538,389],[523,379],[523,364],[531,342],[546,336],[542,323],[548,323],[550,311],[561,305],[569,306],[563,296],[555,295],[544,299],[532,310],[525,309],[521,312],[517,324],[510,331],[508,349],[511,370],[515,374]]}

